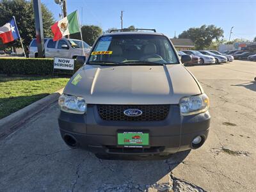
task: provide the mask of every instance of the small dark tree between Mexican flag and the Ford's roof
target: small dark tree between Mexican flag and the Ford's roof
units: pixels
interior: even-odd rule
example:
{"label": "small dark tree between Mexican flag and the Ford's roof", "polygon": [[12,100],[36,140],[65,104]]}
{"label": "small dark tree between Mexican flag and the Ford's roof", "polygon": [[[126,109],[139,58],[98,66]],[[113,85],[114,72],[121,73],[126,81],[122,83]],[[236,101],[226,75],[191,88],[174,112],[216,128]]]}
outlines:
{"label": "small dark tree between Mexican flag and the Ford's roof", "polygon": [[[84,42],[91,46],[95,40],[102,35],[102,29],[99,26],[82,26],[81,30]],[[70,35],[70,38],[81,40],[81,35],[80,33],[74,33]]]}

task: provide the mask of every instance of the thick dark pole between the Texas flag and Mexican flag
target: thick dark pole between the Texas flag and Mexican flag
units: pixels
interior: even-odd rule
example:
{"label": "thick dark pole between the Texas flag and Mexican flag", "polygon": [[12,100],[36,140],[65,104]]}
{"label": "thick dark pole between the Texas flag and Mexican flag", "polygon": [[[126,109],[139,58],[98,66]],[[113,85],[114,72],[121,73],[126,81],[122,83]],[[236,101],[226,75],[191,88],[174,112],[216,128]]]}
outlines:
{"label": "thick dark pole between the Texas flag and Mexican flag", "polygon": [[44,50],[44,29],[41,10],[41,0],[33,0],[34,14],[35,14],[35,28],[36,28],[36,44],[38,58],[45,58]]}

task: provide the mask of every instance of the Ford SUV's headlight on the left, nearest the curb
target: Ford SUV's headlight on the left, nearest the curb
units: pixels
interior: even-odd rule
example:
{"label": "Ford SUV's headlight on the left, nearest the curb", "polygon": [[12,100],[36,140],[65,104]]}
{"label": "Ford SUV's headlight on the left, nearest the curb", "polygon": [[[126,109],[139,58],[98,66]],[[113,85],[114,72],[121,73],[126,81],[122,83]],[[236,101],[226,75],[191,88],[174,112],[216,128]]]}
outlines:
{"label": "Ford SUV's headlight on the left, nearest the curb", "polygon": [[62,94],[59,97],[61,111],[68,113],[84,114],[86,112],[86,102],[83,97]]}

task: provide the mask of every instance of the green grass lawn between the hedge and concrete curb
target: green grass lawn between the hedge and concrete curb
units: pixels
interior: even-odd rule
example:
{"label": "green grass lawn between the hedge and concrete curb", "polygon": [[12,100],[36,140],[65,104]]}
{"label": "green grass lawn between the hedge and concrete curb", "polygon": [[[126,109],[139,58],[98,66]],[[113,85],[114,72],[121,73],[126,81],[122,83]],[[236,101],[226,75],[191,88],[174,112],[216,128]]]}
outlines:
{"label": "green grass lawn between the hedge and concrete curb", "polygon": [[63,88],[68,78],[0,76],[0,119]]}

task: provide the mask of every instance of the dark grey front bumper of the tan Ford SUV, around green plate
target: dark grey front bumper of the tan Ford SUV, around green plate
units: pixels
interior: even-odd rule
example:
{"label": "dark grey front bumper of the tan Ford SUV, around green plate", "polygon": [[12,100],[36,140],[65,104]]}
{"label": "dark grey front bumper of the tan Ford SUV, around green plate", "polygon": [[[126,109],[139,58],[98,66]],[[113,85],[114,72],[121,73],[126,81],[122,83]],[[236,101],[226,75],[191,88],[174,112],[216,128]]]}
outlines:
{"label": "dark grey front bumper of the tan Ford SUV, around green plate", "polygon": [[[209,112],[198,115],[180,116],[179,106],[171,105],[167,118],[159,122],[122,122],[102,120],[97,106],[88,107],[86,115],[61,111],[58,118],[61,136],[72,136],[77,147],[95,154],[173,154],[193,148],[191,141],[202,136],[204,141],[209,133],[211,116]],[[150,148],[118,148],[118,130],[150,132]]]}

